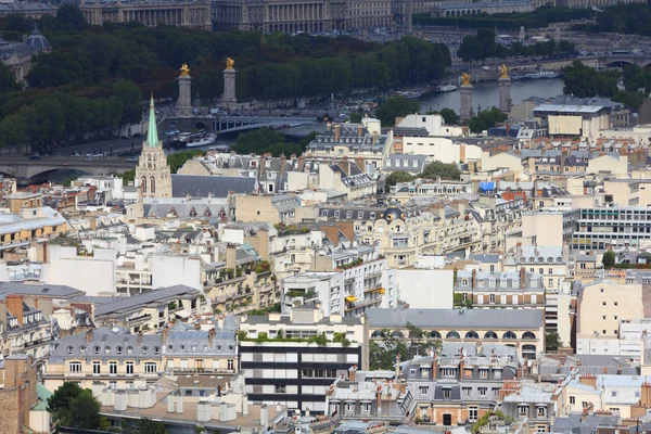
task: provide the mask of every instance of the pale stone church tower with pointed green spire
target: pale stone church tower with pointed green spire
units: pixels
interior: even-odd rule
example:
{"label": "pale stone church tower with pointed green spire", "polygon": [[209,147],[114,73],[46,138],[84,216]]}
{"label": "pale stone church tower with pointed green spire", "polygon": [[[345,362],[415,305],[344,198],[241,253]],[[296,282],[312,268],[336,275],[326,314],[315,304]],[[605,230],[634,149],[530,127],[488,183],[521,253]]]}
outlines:
{"label": "pale stone church tower with pointed green spire", "polygon": [[150,103],[146,140],[136,167],[136,179],[140,183],[143,197],[171,197],[171,175],[163,145],[158,140],[153,95]]}

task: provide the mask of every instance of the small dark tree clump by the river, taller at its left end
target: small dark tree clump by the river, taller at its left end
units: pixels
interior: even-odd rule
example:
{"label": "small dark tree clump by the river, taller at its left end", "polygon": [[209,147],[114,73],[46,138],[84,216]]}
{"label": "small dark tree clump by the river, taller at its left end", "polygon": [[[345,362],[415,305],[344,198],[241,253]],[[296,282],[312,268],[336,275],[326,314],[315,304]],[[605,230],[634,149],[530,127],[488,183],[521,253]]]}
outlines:
{"label": "small dark tree clump by the river, taller at its left end", "polygon": [[499,44],[495,41],[495,30],[490,28],[480,28],[476,35],[463,37],[461,46],[457,51],[457,55],[463,62],[483,61],[488,58],[516,58],[531,55],[553,55],[569,54],[575,51],[574,43],[562,40],[556,42],[549,40],[546,42],[537,42],[533,44],[524,44],[522,42],[513,42],[511,47]]}

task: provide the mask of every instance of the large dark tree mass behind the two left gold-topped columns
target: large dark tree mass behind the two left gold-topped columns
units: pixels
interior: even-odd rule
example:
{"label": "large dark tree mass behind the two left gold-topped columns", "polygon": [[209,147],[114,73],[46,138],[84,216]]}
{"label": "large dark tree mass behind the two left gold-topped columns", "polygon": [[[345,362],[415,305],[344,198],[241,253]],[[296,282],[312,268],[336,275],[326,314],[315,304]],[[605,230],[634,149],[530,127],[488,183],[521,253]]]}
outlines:
{"label": "large dark tree mass behind the two left gold-topped columns", "polygon": [[[224,60],[234,58],[241,100],[387,89],[441,78],[450,65],[446,46],[411,37],[379,44],[349,37],[150,28],[136,22],[99,27],[85,24],[73,4],[37,23],[53,49],[35,56],[28,88],[20,90],[0,65],[0,146],[29,143],[48,150],[90,131],[137,123],[141,93],[133,89],[176,98],[183,63],[191,67],[193,93],[216,98],[224,91]],[[0,31],[21,40],[34,24],[8,15],[0,18]],[[27,128],[41,118],[35,131]]]}

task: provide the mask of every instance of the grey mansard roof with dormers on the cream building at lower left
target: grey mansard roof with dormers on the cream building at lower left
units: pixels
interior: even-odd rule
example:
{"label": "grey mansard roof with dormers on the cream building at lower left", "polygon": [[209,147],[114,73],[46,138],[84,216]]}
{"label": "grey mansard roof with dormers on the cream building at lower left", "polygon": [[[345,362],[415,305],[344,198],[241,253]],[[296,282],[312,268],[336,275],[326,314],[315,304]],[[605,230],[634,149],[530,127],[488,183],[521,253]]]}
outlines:
{"label": "grey mansard roof with dormers on the cream building at lower left", "polygon": [[[140,342],[139,342],[140,339]],[[97,329],[90,342],[86,333],[62,337],[54,343],[48,362],[63,363],[66,359],[159,359],[162,339],[156,334],[129,334],[123,328]],[[107,371],[107,367],[104,367]]]}

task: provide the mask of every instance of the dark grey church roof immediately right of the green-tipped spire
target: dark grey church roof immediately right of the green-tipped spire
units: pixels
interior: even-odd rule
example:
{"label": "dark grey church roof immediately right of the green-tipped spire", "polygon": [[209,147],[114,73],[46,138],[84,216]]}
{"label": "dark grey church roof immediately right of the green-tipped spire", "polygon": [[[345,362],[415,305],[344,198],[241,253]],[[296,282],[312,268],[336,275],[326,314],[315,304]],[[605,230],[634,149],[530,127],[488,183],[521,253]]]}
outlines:
{"label": "dark grey church roof immediately right of the green-tipped spire", "polygon": [[258,182],[253,177],[173,175],[173,197],[227,197],[229,192],[251,194],[257,192]]}

